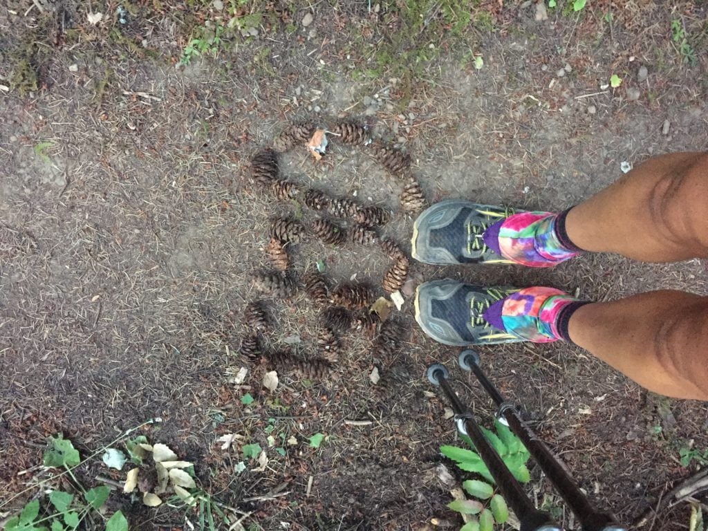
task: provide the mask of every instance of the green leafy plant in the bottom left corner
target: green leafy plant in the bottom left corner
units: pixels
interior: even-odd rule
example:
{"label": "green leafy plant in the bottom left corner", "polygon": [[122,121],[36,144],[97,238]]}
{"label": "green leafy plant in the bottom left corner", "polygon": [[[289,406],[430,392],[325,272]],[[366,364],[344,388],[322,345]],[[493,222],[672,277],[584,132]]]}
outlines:
{"label": "green leafy plant in the bottom left corner", "polygon": [[[40,501],[35,499],[23,507],[21,513],[11,518],[6,523],[6,531],[47,531],[45,525],[50,525],[51,531],[74,530],[91,513],[103,506],[110,496],[110,489],[105,485],[93,487],[86,490],[81,485],[72,472],[72,468],[81,464],[79,451],[74,448],[72,442],[64,439],[59,433],[57,437],[50,437],[47,450],[44,453],[45,467],[64,469],[74,480],[74,486],[81,492],[81,496],[60,490],[50,491],[49,503],[44,511],[40,511]],[[42,513],[40,518],[40,513]],[[117,511],[106,521],[106,531],[127,531],[128,523],[125,516]]]}

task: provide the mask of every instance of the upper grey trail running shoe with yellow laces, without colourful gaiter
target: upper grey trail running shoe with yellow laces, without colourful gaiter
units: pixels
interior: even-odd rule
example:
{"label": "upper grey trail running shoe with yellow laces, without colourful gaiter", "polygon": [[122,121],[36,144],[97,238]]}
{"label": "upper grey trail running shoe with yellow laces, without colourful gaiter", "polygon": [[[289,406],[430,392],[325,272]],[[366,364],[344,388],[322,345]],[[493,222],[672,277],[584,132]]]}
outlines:
{"label": "upper grey trail running shoe with yellow laces, without colourful gaiter", "polygon": [[462,199],[435,203],[413,224],[413,258],[433,265],[514,263],[489,249],[482,236],[489,225],[516,212],[522,211]]}

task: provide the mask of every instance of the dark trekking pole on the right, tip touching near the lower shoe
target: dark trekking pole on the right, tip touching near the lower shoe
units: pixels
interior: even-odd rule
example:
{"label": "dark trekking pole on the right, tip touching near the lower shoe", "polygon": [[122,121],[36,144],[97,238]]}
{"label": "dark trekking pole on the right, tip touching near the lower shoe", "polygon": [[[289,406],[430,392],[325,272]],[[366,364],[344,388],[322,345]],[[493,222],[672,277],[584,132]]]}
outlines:
{"label": "dark trekking pole on the right, tip touching near the lower shoe", "polygon": [[457,359],[459,366],[474,373],[484,390],[498,407],[497,416],[506,420],[509,428],[521,439],[526,449],[534,457],[539,467],[556,487],[561,497],[566,501],[573,513],[580,520],[583,531],[627,531],[626,527],[617,525],[615,518],[609,513],[601,513],[590,506],[588,498],[578,487],[566,467],[549,449],[545,442],[527,426],[521,419],[516,407],[510,404],[489,381],[479,367],[479,354],[474,350],[463,350]]}

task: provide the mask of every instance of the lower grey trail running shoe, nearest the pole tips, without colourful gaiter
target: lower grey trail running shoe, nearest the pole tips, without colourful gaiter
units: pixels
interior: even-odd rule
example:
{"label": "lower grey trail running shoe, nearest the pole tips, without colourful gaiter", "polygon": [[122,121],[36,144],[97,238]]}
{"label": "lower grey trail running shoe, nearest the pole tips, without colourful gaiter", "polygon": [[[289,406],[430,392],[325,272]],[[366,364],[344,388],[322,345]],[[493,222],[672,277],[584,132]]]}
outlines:
{"label": "lower grey trail running shoe, nearest the pole tips, without colourful gaiter", "polygon": [[457,280],[433,280],[416,290],[416,321],[438,343],[450,346],[493,345],[524,341],[492,326],[484,312],[516,287],[484,287]]}

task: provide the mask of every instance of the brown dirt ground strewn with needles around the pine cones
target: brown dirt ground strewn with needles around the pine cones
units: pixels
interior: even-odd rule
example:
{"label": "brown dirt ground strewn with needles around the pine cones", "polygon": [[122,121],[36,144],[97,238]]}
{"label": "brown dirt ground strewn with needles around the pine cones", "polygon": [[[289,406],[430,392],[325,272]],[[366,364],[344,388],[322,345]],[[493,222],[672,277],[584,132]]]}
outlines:
{"label": "brown dirt ground strewn with needles around the pine cones", "polygon": [[[251,154],[289,122],[354,118],[411,154],[429,202],[556,210],[614,181],[624,162],[708,141],[701,2],[590,0],[578,13],[561,0],[2,4],[0,503],[41,473],[47,435],[61,431],[87,455],[160,417],[144,434],[194,461],[215,499],[251,513],[249,530],[423,530],[433,518],[459,527],[437,472],[438,449],[455,433],[424,378],[435,360],[454,367],[457,350],[416,328],[410,298],[396,315],[410,338],[394,360],[409,382],[383,401],[370,383],[370,344],[355,333],[322,379],[282,375],[273,393],[259,367],[241,386],[229,379],[248,366],[236,353],[241,312],[261,297],[252,275],[265,265],[268,220],[302,212],[248,178]],[[103,18],[93,24],[95,13]],[[180,64],[185,47],[217,27],[219,39]],[[409,250],[402,183],[364,149],[335,145],[315,163],[298,147],[281,168],[302,185],[395,211],[382,233]],[[293,261],[299,272],[324,261],[333,283],[356,274],[375,285],[389,265],[362,246],[314,239]],[[706,273],[700,261],[588,255],[542,271],[416,263],[409,275],[607,300],[659,288],[705,295]],[[312,304],[302,294],[266,299],[273,346],[299,338],[292,347],[314,355]],[[567,344],[480,352],[593,501],[622,522],[700,466],[681,466],[679,450],[708,448],[704,404],[648,393]],[[489,421],[473,379],[454,375]],[[252,404],[241,401],[246,392]],[[280,455],[270,430],[297,443]],[[226,433],[268,448],[265,471],[251,462],[237,474],[239,445],[217,442]],[[326,435],[316,449],[315,433]],[[108,474],[96,464],[81,477],[99,473]],[[538,469],[532,477],[539,506],[573,527]],[[189,528],[183,511],[119,492],[111,500],[132,528]],[[686,504],[662,509],[643,528],[687,529],[688,516]]]}

